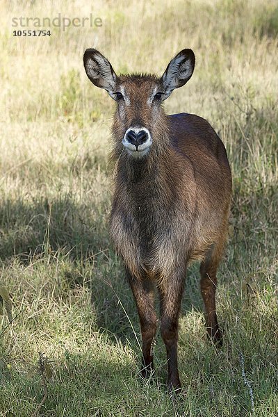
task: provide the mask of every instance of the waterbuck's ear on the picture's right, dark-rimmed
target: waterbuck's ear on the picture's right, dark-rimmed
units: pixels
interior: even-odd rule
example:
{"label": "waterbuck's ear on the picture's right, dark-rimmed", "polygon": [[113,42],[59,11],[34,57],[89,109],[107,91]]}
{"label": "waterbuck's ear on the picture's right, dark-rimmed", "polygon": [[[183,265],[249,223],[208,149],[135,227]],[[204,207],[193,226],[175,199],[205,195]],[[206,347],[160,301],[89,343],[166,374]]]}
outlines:
{"label": "waterbuck's ear on the picture's right, dark-rimmed", "polygon": [[183,49],[168,64],[163,76],[165,90],[163,99],[167,99],[175,88],[182,87],[192,76],[195,67],[195,55],[192,49]]}

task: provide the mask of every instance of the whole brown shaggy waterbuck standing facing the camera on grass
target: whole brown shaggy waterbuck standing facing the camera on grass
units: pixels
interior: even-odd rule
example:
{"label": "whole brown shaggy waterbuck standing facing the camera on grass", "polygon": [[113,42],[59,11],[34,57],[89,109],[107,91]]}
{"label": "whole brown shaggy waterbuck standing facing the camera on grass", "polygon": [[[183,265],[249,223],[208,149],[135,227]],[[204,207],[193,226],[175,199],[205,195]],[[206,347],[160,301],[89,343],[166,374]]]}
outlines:
{"label": "whole brown shaggy waterbuck standing facing the camera on grass", "polygon": [[113,119],[115,191],[110,233],[122,256],[142,333],[142,375],[153,368],[154,287],[160,297],[168,386],[180,390],[178,319],[190,261],[201,260],[206,329],[220,344],[215,312],[216,270],[227,236],[231,171],[226,150],[202,117],[165,115],[162,102],[192,76],[195,56],[183,49],[163,76],[117,76],[95,49],[84,54],[90,81],[116,101]]}

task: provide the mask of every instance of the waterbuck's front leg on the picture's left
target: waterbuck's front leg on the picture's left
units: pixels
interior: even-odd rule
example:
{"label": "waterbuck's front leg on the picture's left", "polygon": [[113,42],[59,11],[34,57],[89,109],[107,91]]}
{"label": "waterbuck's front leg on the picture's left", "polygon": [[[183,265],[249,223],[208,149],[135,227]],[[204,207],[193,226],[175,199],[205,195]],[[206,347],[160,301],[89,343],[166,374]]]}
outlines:
{"label": "waterbuck's front leg on the picture's left", "polygon": [[129,284],[136,300],[140,320],[143,355],[141,373],[143,377],[148,377],[151,370],[154,369],[152,342],[156,334],[156,313],[148,282],[143,279],[140,281],[140,279],[133,277],[129,271],[126,271],[126,276],[129,279]]}

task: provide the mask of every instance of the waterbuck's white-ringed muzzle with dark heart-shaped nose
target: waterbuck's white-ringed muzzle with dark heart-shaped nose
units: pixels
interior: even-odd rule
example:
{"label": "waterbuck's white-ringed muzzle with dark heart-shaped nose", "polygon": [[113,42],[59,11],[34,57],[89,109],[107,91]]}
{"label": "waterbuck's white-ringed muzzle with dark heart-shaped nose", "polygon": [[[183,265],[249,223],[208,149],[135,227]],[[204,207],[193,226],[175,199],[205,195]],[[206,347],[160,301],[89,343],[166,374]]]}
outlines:
{"label": "waterbuck's white-ringed muzzle with dark heart-shaped nose", "polygon": [[140,157],[147,154],[152,145],[152,136],[145,127],[130,127],[124,133],[122,144],[130,155]]}

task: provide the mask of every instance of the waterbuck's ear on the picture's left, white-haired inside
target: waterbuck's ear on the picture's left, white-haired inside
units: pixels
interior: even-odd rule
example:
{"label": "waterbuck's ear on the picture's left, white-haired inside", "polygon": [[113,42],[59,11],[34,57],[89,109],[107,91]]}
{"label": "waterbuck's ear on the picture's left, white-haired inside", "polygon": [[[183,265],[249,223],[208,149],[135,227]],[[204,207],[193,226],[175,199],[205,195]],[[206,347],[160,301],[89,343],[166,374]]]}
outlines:
{"label": "waterbuck's ear on the picture's left, white-haired inside", "polygon": [[111,63],[97,49],[86,49],[83,56],[85,72],[90,81],[99,88],[104,88],[115,99],[117,76]]}

